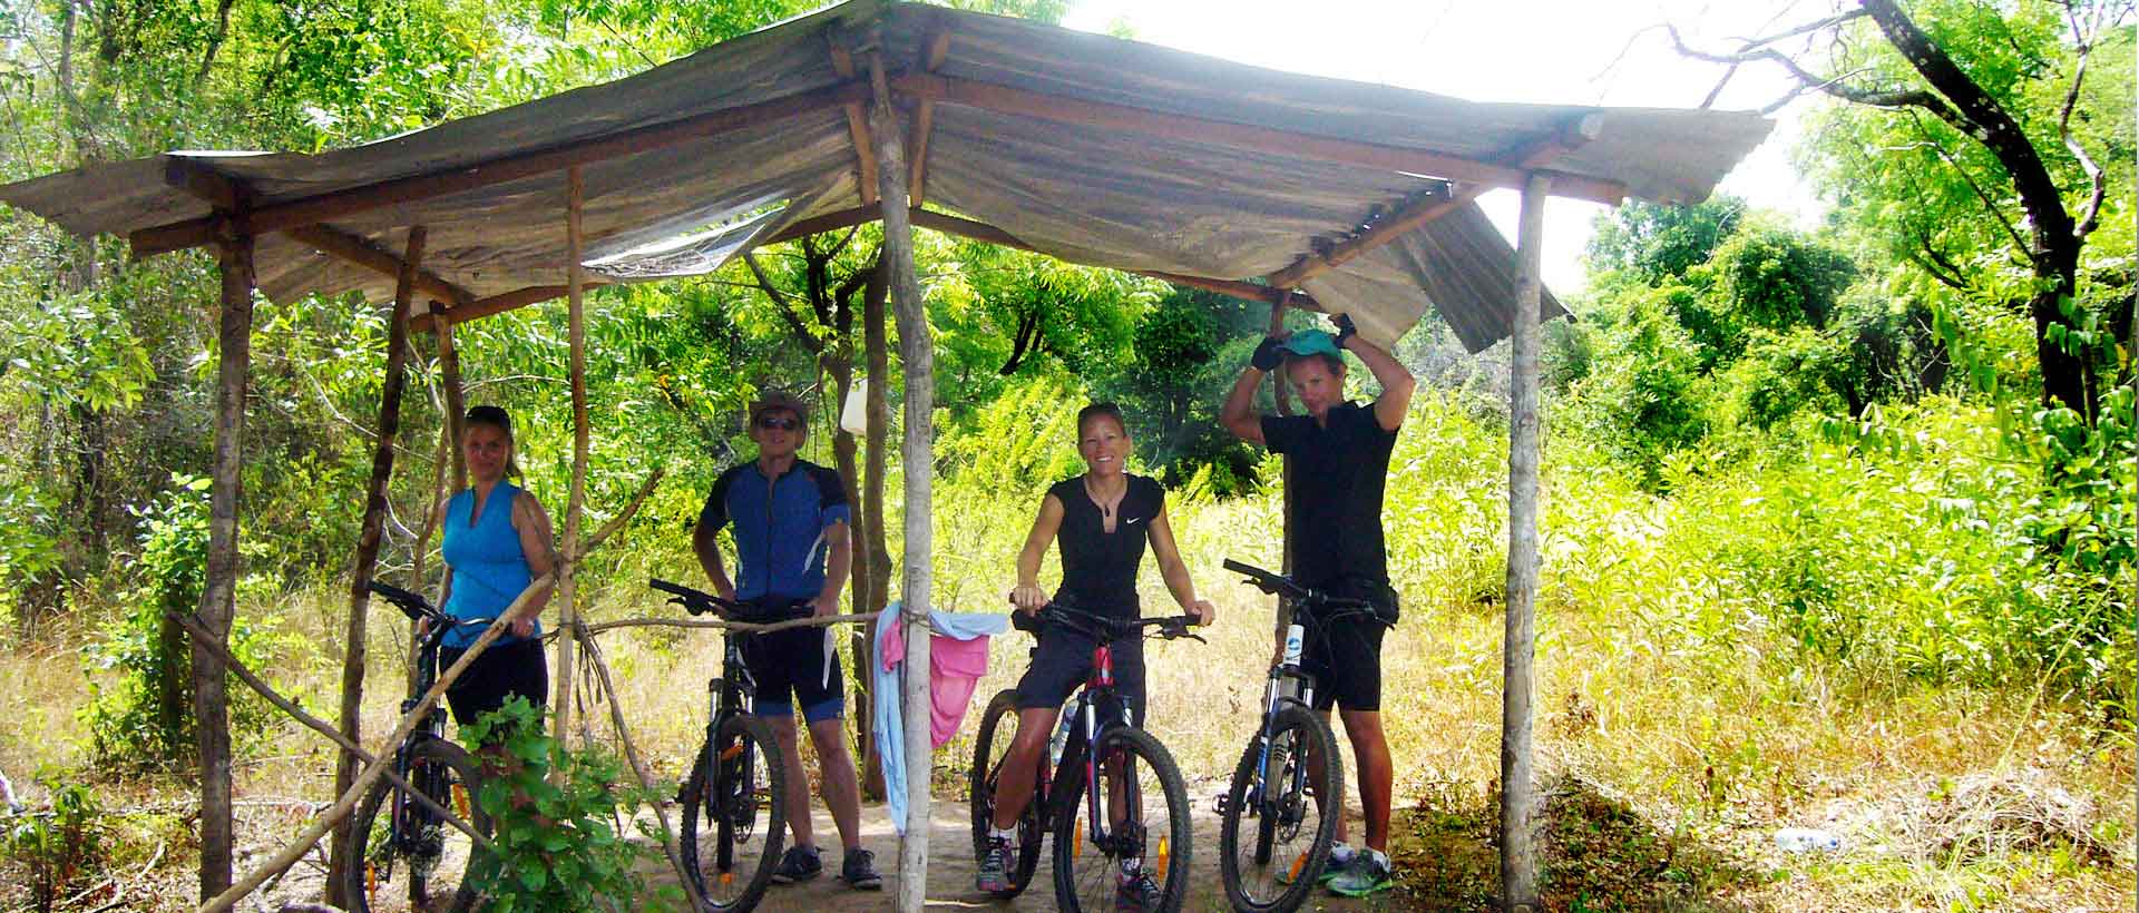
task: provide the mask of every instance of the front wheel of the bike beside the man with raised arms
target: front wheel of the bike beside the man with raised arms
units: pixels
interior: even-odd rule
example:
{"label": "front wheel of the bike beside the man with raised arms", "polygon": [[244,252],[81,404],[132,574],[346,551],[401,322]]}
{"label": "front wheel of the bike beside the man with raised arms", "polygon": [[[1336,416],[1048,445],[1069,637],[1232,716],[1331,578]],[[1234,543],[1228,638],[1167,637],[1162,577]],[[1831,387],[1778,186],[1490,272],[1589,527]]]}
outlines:
{"label": "front wheel of the bike beside the man with raised arms", "polygon": [[[1320,776],[1315,757],[1324,761]],[[1232,909],[1271,913],[1307,902],[1337,836],[1341,793],[1343,761],[1328,723],[1301,706],[1279,710],[1268,753],[1260,736],[1249,740],[1226,789],[1217,860]]]}

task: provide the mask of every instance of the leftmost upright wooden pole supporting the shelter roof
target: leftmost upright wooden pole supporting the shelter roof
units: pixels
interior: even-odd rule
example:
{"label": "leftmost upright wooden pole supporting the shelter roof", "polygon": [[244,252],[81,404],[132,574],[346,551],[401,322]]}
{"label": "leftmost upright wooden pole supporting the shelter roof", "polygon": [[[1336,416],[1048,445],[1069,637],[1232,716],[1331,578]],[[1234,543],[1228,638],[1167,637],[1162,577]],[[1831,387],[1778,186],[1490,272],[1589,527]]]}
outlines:
{"label": "leftmost upright wooden pole supporting the shelter roof", "polygon": [[[216,453],[210,464],[207,579],[201,624],[229,644],[237,597],[237,502],[244,496],[246,385],[252,368],[252,237],[218,244],[222,314],[216,340]],[[222,661],[193,648],[193,718],[201,750],[201,898],[231,885],[231,718]]]}

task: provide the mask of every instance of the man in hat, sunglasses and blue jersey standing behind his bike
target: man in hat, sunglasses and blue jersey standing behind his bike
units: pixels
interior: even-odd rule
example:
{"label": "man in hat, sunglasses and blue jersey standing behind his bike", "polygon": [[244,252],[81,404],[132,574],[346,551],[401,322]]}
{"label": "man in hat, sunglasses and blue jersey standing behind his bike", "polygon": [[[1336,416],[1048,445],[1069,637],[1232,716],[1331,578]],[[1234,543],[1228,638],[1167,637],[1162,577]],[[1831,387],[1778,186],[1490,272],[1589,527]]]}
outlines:
{"label": "man in hat, sunglasses and blue jersey standing behind his bike", "polygon": [[[811,603],[824,616],[838,614],[838,592],[847,586],[853,550],[847,541],[847,488],[838,473],[800,460],[809,434],[809,406],[783,391],[768,391],[751,404],[751,440],[757,460],[721,473],[697,515],[691,545],[712,590],[723,599],[772,607]],[[719,532],[734,524],[738,579],[721,564]],[[817,746],[824,804],[832,810],[845,849],[841,881],[877,889],[875,853],[862,849],[862,787],[853,753],[841,733],[845,682],[832,635],[824,626],[774,631],[744,639],[742,665],[757,680],[757,716],[772,727],[787,765],[787,827],[794,847],[772,870],[774,883],[796,883],[824,872],[809,817],[809,776],[796,750],[796,708]]]}

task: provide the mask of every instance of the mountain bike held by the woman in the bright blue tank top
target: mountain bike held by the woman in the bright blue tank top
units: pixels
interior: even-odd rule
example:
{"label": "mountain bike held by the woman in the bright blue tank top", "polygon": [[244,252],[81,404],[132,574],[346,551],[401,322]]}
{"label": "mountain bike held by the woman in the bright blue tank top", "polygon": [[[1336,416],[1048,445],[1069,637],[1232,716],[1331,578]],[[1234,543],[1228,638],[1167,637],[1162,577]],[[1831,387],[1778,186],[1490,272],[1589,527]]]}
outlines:
{"label": "mountain bike held by the woman in the bright blue tank top", "polygon": [[[394,607],[402,609],[411,622],[428,622],[417,637],[415,686],[402,699],[402,714],[415,708],[417,697],[438,682],[438,646],[456,626],[490,626],[492,618],[456,620],[430,605],[428,599],[370,582],[370,590]],[[466,748],[445,738],[445,708],[434,706],[424,723],[394,748],[394,768],[402,780],[419,789],[436,808],[451,808],[462,821],[490,836],[490,815],[473,802],[477,785],[475,759]],[[409,795],[406,789],[381,778],[364,793],[357,817],[351,823],[349,857],[342,864],[342,896],[353,913],[372,911],[468,911],[481,894],[473,872],[475,840],[428,804]],[[409,885],[406,892],[389,892],[396,879]]]}

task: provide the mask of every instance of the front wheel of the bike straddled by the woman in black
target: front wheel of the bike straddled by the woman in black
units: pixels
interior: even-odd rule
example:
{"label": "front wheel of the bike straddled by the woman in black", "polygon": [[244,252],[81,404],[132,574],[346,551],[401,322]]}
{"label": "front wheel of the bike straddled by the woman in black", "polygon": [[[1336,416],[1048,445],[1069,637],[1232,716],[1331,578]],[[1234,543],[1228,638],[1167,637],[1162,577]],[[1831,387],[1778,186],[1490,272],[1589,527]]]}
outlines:
{"label": "front wheel of the bike straddled by the woman in black", "polygon": [[[1055,778],[1055,904],[1174,913],[1189,892],[1189,793],[1157,738],[1117,727]],[[1093,802],[1097,798],[1097,802]],[[1097,815],[1095,815],[1097,810]]]}

